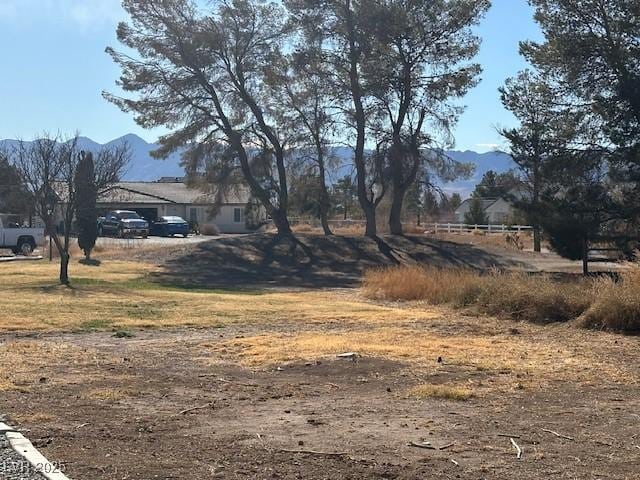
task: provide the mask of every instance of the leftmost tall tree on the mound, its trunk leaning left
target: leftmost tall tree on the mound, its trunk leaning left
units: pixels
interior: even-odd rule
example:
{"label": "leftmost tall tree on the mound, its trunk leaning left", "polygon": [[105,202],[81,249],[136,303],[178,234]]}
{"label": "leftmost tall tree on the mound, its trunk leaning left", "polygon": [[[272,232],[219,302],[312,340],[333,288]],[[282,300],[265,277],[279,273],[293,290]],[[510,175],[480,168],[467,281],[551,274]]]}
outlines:
{"label": "leftmost tall tree on the mound, its trunk leaning left", "polygon": [[130,21],[118,26],[118,40],[136,56],[107,51],[122,69],[119,85],[136,98],[106,98],[145,127],[172,129],[154,155],[186,147],[188,172],[205,171],[215,180],[216,203],[241,177],[278,232],[290,235],[293,132],[282,125],[291,112],[274,98],[266,78],[267,65],[281,58],[290,39],[282,5],[124,0],[123,7]]}

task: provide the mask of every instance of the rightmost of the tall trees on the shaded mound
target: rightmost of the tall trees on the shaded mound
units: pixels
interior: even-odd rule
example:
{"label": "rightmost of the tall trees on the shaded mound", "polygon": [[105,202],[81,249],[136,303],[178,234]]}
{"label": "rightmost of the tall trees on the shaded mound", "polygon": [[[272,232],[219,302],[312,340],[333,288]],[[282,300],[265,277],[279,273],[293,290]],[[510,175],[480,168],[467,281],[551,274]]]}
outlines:
{"label": "rightmost of the tall trees on the shaded mound", "polygon": [[377,136],[386,143],[392,234],[402,234],[405,195],[432,156],[425,150],[440,132],[449,141],[462,111],[454,100],[477,83],[481,69],[472,59],[480,40],[472,27],[488,8],[488,0],[391,0],[364,12],[378,59],[365,78],[379,112]]}

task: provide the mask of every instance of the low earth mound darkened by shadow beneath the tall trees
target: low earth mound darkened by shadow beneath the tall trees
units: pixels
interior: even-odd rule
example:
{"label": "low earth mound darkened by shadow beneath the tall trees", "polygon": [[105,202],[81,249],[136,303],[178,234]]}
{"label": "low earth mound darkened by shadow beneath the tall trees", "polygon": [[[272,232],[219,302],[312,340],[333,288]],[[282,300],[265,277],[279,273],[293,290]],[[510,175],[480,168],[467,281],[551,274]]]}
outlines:
{"label": "low earth mound darkened by shadow beneath the tall trees", "polygon": [[471,245],[419,236],[259,234],[194,245],[170,256],[151,279],[207,288],[353,287],[366,270],[399,264],[477,270],[522,266]]}

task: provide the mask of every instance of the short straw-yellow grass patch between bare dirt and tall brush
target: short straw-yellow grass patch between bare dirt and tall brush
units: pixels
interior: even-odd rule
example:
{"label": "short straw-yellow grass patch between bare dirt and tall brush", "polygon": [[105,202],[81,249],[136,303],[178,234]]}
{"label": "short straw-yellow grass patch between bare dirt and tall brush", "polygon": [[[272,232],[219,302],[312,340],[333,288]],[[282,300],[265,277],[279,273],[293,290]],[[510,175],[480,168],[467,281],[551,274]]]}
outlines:
{"label": "short straw-yellow grass patch between bare dirt and tall brush", "polygon": [[[399,308],[398,321],[401,317],[402,309]],[[479,322],[483,327],[481,330],[478,329]],[[439,374],[439,384],[447,378],[448,372],[467,372],[467,376],[472,372],[473,376],[467,378],[478,381],[464,386],[478,396],[496,389],[546,388],[558,381],[597,385],[603,375],[614,382],[638,382],[637,372],[631,365],[610,356],[609,347],[600,348],[606,337],[594,338],[593,332],[564,326],[558,327],[563,329],[560,332],[527,324],[519,327],[519,335],[513,335],[506,325],[508,323],[498,319],[476,319],[466,323],[459,316],[451,316],[419,327],[368,325],[338,331],[272,332],[221,344],[203,343],[201,346],[210,353],[201,360],[273,368],[317,359],[342,361],[336,360],[336,355],[357,352],[364,357],[410,364],[411,374]],[[594,348],[584,348],[590,341]],[[621,342],[619,340],[620,345]],[[633,348],[632,339],[628,343],[624,348]],[[596,345],[599,347],[595,348]],[[442,363],[437,362],[438,357],[443,359]],[[480,381],[482,378],[490,381]],[[461,387],[458,381],[458,378],[452,378],[445,385]],[[422,382],[431,383],[426,379]]]}

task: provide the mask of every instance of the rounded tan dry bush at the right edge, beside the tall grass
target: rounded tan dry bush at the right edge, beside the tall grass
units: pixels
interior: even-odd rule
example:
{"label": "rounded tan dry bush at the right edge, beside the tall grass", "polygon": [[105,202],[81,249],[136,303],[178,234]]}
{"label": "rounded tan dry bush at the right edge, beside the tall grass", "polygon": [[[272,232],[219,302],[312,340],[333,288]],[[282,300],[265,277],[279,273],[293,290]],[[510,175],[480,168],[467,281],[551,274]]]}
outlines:
{"label": "rounded tan dry bush at the right edge, beside the tall grass", "polygon": [[640,266],[630,265],[616,281],[600,278],[594,282],[591,307],[578,323],[586,328],[620,332],[640,332]]}

